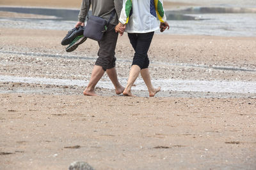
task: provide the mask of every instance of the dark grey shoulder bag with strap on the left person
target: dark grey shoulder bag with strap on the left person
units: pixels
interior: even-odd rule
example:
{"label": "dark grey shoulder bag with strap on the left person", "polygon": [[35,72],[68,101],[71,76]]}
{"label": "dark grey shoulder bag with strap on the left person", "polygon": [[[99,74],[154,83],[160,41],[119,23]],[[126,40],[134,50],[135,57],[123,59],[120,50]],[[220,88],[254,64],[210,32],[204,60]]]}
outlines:
{"label": "dark grey shoulder bag with strap on the left person", "polygon": [[87,24],[84,28],[84,37],[100,41],[103,38],[104,33],[108,30],[108,24],[113,19],[115,10],[112,11],[111,17],[108,21],[104,18],[94,15],[89,16],[89,0],[88,0],[88,17]]}

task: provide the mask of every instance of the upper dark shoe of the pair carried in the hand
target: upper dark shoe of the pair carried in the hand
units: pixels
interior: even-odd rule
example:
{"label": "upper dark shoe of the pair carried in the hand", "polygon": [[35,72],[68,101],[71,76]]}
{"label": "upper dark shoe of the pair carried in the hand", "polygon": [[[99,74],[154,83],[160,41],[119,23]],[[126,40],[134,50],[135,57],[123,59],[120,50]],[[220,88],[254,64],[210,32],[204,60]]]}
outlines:
{"label": "upper dark shoe of the pair carried in the hand", "polygon": [[65,36],[65,38],[63,38],[61,41],[61,45],[69,45],[77,36],[82,36],[83,32],[83,26],[79,26],[78,28],[75,27],[74,29],[68,31],[67,36]]}

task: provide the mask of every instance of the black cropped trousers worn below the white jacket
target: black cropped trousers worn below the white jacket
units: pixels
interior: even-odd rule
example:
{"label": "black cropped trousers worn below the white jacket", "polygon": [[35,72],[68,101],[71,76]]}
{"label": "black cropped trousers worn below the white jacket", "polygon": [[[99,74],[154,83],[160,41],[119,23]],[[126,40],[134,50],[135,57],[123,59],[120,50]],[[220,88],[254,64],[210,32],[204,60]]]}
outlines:
{"label": "black cropped trousers worn below the white jacket", "polygon": [[149,65],[148,49],[154,36],[154,32],[128,33],[130,43],[134,48],[132,65],[137,65],[140,69],[145,69]]}

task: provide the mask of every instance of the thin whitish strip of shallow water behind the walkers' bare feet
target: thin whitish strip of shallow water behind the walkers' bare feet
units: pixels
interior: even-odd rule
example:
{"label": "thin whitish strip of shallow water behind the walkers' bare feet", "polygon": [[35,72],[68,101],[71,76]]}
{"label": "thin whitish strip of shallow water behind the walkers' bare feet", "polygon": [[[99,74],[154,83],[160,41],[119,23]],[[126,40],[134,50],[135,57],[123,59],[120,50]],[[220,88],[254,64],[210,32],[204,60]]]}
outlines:
{"label": "thin whitish strip of shallow water behind the walkers' bare feet", "polygon": [[[35,78],[35,77],[18,77],[18,76],[0,76],[1,82],[14,83],[39,83],[47,85],[77,85],[84,87],[89,81],[84,80],[63,80],[51,78]],[[120,79],[120,83],[125,84],[126,79]],[[229,92],[229,93],[252,93],[256,94],[255,81],[207,81],[207,80],[152,80],[156,87],[161,87],[162,91],[178,91],[178,92]],[[138,78],[135,82],[133,90],[145,90],[143,80]],[[111,81],[99,81],[97,87],[104,89],[114,89]]]}

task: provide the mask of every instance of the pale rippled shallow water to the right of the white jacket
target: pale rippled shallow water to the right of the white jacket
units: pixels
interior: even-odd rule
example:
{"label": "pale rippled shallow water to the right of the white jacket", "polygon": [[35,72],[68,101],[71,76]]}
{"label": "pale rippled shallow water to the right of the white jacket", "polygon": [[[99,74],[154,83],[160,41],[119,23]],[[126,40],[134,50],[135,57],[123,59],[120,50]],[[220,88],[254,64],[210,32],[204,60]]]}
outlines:
{"label": "pale rippled shallow water to the right of the white jacket", "polygon": [[200,20],[170,20],[165,34],[256,36],[256,13],[191,14]]}

